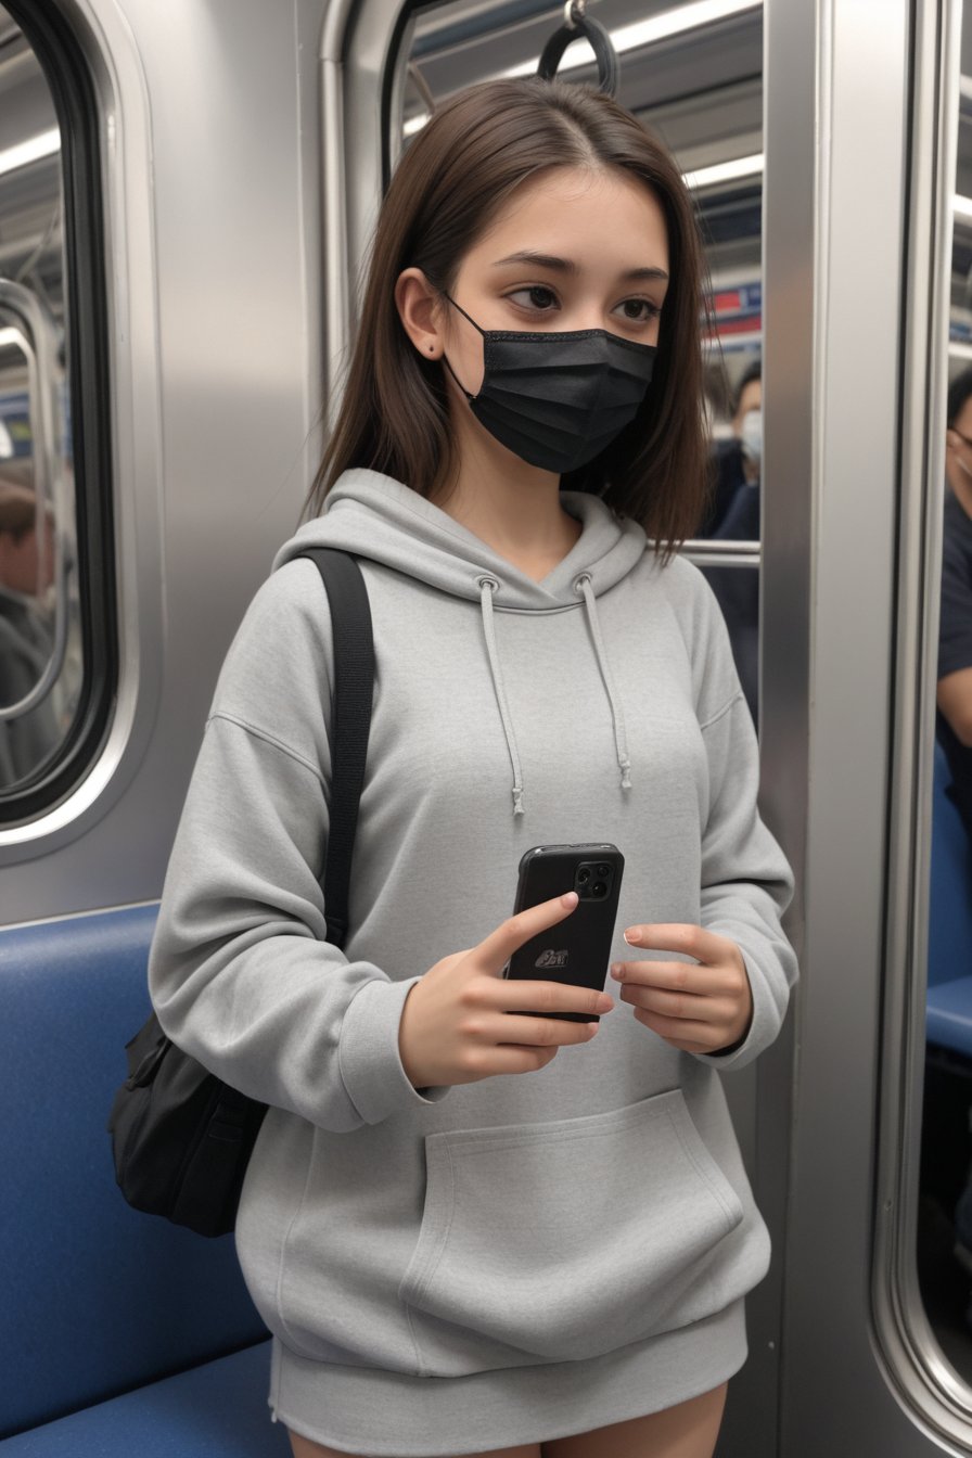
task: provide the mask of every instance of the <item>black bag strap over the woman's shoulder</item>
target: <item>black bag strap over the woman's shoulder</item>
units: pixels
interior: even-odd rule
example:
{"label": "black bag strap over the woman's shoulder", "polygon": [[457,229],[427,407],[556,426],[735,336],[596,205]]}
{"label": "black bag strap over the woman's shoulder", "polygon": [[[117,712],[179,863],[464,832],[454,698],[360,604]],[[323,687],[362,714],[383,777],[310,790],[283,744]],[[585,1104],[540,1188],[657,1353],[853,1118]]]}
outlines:
{"label": "black bag strap over the woman's shoulder", "polygon": [[364,577],[354,557],[331,547],[307,547],[331,604],[334,694],[331,700],[331,830],[324,866],[328,940],[344,946],[348,930],[351,854],[364,784],[375,694],[375,640]]}

